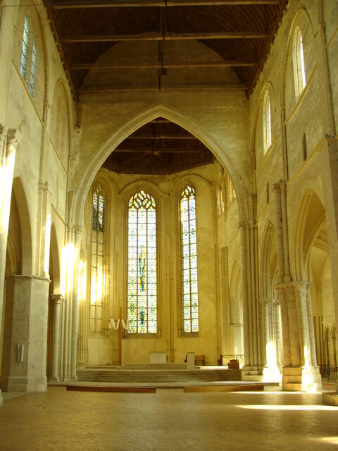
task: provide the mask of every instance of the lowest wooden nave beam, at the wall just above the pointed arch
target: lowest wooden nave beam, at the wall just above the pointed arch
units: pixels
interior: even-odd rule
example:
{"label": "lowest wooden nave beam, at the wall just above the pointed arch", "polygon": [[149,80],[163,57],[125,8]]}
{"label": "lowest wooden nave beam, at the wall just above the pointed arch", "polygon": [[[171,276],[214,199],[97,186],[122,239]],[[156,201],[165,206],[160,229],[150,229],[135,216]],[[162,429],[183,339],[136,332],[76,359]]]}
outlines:
{"label": "lowest wooden nave beam, at the wall just above the pointed arch", "polygon": [[[246,85],[187,85],[187,86],[162,86],[165,91],[244,91]],[[158,86],[85,86],[80,87],[80,94],[108,94],[109,92],[160,92]]]}

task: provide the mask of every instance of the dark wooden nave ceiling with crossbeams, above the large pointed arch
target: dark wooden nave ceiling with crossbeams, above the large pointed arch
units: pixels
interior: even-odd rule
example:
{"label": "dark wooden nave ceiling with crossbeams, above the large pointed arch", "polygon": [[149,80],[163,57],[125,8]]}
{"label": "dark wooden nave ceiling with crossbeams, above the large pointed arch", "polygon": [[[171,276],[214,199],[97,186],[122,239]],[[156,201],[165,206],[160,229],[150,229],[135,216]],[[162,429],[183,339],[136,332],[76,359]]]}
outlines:
{"label": "dark wooden nave ceiling with crossbeams, above the large pointed arch", "polygon": [[[147,89],[161,89],[168,70],[232,67],[241,89],[252,91],[270,49],[287,0],[44,0],[51,27],[68,73],[73,95],[77,99],[89,70],[139,69],[156,71],[158,83]],[[163,42],[196,39],[221,58],[220,61],[165,61]],[[96,63],[108,49],[119,42],[154,41],[158,59]],[[183,84],[184,84],[184,80]],[[187,87],[187,86],[186,86]],[[123,89],[108,86],[107,90]],[[142,89],[142,86],[139,86]],[[177,89],[166,86],[165,89]],[[188,86],[189,89],[200,87]],[[216,89],[204,85],[203,89]],[[218,86],[231,89],[232,85]],[[125,87],[125,90],[128,88]]]}

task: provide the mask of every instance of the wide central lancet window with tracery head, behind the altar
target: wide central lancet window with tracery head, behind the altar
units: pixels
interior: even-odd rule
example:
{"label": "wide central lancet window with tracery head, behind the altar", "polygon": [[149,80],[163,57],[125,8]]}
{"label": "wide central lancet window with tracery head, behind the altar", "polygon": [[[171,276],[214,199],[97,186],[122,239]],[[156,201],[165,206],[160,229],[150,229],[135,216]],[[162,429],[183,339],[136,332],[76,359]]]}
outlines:
{"label": "wide central lancet window with tracery head, behind the altar", "polygon": [[129,333],[157,333],[156,202],[139,190],[128,205]]}

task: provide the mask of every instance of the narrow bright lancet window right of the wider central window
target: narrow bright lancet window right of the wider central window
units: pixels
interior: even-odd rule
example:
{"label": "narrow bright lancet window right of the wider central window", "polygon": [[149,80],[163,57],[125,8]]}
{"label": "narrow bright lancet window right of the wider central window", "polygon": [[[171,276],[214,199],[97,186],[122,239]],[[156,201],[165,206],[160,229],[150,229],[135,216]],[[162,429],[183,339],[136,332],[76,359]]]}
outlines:
{"label": "narrow bright lancet window right of the wider central window", "polygon": [[194,187],[181,193],[182,304],[183,332],[199,331],[199,292],[197,287],[196,202]]}

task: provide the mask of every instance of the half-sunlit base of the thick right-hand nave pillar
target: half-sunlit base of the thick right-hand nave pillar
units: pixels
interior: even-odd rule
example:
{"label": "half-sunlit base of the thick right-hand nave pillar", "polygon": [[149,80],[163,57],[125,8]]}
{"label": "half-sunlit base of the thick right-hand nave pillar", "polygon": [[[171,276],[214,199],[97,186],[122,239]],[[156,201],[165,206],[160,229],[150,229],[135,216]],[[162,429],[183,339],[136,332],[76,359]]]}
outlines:
{"label": "half-sunlit base of the thick right-hand nave pillar", "polygon": [[293,392],[314,392],[322,388],[318,366],[284,366],[282,389]]}

